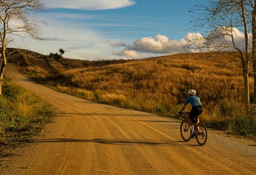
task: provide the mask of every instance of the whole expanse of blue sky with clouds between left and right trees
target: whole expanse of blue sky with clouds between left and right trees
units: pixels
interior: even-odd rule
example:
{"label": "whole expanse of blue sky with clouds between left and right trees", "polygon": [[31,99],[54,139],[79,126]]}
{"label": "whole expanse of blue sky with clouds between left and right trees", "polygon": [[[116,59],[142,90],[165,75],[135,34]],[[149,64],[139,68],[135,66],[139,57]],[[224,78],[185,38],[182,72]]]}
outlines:
{"label": "whole expanse of blue sky with clouds between left and right trees", "polygon": [[[97,60],[142,58],[184,52],[188,12],[195,0],[42,0],[42,37],[25,46],[42,54],[66,50],[65,57]],[[193,14],[195,15],[195,14]],[[189,36],[191,36],[190,34]]]}

